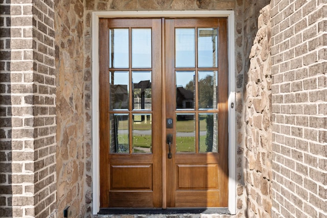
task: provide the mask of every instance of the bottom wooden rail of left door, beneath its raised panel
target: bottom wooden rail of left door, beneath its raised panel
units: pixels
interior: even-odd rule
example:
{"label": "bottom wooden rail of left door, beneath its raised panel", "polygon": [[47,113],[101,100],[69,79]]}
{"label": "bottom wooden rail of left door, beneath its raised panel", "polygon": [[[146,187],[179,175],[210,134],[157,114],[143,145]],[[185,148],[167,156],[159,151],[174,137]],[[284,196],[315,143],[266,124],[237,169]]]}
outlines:
{"label": "bottom wooden rail of left door, beneath its raised panel", "polygon": [[[123,196],[123,197],[122,197]],[[152,191],[110,191],[110,207],[154,207]]]}

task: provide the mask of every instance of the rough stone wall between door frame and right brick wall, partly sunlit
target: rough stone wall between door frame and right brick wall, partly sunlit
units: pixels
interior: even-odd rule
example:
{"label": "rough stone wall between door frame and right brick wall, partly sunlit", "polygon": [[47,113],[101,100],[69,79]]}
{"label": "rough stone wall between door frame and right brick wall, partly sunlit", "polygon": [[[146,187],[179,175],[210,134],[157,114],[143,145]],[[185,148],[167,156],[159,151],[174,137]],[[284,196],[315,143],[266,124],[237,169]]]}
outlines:
{"label": "rough stone wall between door frame and right brick wall, partly sunlit", "polygon": [[270,217],[270,7],[269,1],[237,3],[237,208],[241,217]]}

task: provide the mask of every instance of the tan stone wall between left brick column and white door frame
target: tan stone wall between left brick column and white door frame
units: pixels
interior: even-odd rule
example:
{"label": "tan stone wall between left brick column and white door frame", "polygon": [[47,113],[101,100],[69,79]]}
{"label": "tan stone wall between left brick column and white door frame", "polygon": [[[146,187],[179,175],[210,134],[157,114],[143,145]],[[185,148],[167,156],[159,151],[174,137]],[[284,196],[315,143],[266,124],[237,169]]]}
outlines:
{"label": "tan stone wall between left brick column and white door frame", "polygon": [[[88,25],[90,25],[88,23]],[[55,1],[58,213],[90,213],[90,29],[80,0]],[[86,52],[85,52],[86,51]],[[83,216],[84,217],[84,216]]]}

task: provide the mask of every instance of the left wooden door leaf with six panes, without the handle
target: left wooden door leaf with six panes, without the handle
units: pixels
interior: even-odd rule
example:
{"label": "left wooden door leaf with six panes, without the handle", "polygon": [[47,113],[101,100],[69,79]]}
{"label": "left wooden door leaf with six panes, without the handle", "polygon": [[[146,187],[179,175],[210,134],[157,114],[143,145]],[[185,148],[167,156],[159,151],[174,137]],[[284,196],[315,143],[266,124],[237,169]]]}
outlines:
{"label": "left wooden door leaf with six panes, without the handle", "polygon": [[100,19],[100,207],[161,207],[161,19]]}

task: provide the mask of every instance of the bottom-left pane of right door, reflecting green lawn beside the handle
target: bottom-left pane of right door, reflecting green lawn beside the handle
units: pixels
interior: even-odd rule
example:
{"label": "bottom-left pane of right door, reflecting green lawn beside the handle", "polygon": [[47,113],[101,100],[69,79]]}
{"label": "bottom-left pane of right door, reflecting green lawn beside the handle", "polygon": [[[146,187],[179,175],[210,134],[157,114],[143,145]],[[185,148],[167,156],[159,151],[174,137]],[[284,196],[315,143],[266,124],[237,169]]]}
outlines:
{"label": "bottom-left pane of right door, reflecting green lawn beside the handle", "polygon": [[195,152],[194,113],[176,114],[176,152]]}

